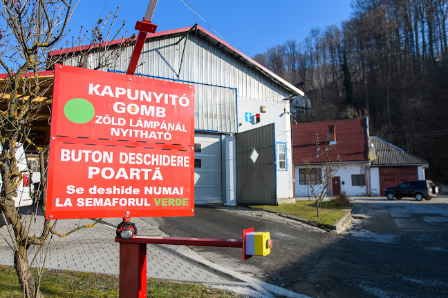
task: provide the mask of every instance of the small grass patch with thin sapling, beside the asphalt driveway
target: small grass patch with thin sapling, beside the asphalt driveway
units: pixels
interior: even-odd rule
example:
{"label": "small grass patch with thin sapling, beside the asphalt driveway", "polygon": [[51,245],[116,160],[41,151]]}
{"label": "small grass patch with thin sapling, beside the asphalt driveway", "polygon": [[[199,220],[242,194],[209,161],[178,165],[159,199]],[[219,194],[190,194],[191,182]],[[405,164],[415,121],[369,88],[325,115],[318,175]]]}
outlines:
{"label": "small grass patch with thin sapling, beside the asphalt driveway", "polygon": [[279,206],[250,206],[254,209],[268,209],[277,212],[284,212],[287,215],[300,217],[316,224],[333,226],[337,221],[346,215],[346,210],[351,209],[353,204],[344,207],[335,205],[335,201],[324,201],[320,209],[320,217],[317,217],[317,209],[314,201],[297,201],[296,203],[279,204]]}

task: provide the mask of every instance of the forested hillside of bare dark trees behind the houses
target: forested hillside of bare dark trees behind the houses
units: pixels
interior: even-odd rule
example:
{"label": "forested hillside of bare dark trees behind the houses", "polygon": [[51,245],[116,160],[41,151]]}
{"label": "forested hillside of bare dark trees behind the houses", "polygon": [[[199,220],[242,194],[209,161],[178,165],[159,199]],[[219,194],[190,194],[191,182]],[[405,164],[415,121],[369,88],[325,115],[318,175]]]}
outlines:
{"label": "forested hillside of bare dark trees behind the houses", "polygon": [[426,159],[427,179],[447,183],[448,0],[352,6],[341,26],[314,28],[304,41],[288,40],[254,59],[304,82],[315,113],[295,121],[368,115],[371,135]]}

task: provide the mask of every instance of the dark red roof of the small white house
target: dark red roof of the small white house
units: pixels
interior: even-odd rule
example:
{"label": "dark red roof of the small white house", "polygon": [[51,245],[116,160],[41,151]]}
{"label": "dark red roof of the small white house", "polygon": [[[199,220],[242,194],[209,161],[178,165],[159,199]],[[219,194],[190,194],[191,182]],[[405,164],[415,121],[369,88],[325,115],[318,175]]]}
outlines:
{"label": "dark red roof of the small white house", "polygon": [[[335,127],[334,144],[330,126]],[[367,161],[367,137],[367,119],[293,124],[292,159],[294,163]]]}

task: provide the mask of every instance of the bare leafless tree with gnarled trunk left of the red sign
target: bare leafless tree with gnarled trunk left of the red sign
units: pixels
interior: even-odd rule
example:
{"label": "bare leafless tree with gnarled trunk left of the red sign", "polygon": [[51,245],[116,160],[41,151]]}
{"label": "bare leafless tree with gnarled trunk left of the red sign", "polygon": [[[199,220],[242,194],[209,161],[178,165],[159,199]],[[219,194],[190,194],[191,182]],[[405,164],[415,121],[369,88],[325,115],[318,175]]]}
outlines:
{"label": "bare leafless tree with gnarled trunk left of the red sign", "polygon": [[[41,270],[37,276],[32,275],[30,266],[42,268],[43,263],[32,259],[28,262],[28,254],[41,252],[48,244],[52,235],[66,235],[84,228],[74,228],[66,235],[55,230],[56,221],[44,221],[41,230],[31,230],[30,223],[37,212],[37,206],[31,214],[21,217],[19,208],[15,208],[15,197],[20,196],[17,186],[24,177],[19,170],[21,162],[16,156],[17,148],[24,146],[27,153],[39,156],[41,201],[39,207],[46,214],[46,167],[48,164],[48,134],[39,138],[35,134],[37,126],[44,123],[47,130],[50,123],[51,90],[53,88],[53,66],[58,61],[64,61],[70,55],[69,51],[59,56],[48,53],[61,46],[66,37],[66,26],[71,18],[77,1],[72,0],[0,0],[0,66],[5,74],[0,77],[0,174],[1,197],[0,210],[10,232],[12,249],[15,252],[14,263],[17,276],[23,288],[24,297],[42,297],[39,290]],[[122,39],[122,45],[115,51],[107,51],[110,30],[102,31],[112,26],[117,14],[109,14],[106,19],[100,19],[91,36],[81,33],[73,38],[71,43],[62,46],[77,46],[85,39],[91,39],[87,52],[97,53],[99,59],[95,68],[104,67],[111,59],[119,56],[123,47],[130,40]],[[123,23],[124,24],[124,23]],[[105,27],[106,26],[106,27]],[[116,35],[115,35],[116,36]],[[80,65],[82,66],[82,65]],[[49,74],[48,74],[49,73]],[[39,123],[39,124],[38,124]],[[23,144],[23,145],[22,145]],[[92,226],[92,225],[90,225]],[[34,247],[34,250],[29,249]],[[34,263],[34,264],[33,264]]]}

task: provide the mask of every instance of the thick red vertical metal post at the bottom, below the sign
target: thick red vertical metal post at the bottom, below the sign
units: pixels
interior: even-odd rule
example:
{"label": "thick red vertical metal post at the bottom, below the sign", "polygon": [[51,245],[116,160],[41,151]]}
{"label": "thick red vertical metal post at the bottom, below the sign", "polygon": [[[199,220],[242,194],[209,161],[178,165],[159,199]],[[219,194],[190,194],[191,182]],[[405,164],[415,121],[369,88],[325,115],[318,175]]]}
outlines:
{"label": "thick red vertical metal post at the bottom, below the sign", "polygon": [[146,244],[120,243],[120,298],[147,297]]}

